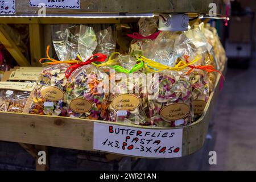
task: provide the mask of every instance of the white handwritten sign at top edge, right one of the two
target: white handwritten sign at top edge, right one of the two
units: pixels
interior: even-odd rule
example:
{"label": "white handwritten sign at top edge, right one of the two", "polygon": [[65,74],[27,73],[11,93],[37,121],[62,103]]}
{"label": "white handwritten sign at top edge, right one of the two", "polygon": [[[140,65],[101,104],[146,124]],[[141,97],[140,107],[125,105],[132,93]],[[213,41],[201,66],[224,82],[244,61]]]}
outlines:
{"label": "white handwritten sign at top edge, right one of the two", "polygon": [[30,0],[31,7],[42,7],[43,4],[49,8],[80,9],[80,0]]}

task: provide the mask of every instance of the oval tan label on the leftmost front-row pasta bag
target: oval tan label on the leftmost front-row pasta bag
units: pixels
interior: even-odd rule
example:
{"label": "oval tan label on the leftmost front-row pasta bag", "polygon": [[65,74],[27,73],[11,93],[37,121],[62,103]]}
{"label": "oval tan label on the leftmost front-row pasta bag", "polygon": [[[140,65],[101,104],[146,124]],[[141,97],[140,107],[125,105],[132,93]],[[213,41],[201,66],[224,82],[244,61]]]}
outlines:
{"label": "oval tan label on the leftmost front-row pasta bag", "polygon": [[60,101],[64,98],[64,92],[55,86],[45,86],[40,92],[42,97],[49,101]]}

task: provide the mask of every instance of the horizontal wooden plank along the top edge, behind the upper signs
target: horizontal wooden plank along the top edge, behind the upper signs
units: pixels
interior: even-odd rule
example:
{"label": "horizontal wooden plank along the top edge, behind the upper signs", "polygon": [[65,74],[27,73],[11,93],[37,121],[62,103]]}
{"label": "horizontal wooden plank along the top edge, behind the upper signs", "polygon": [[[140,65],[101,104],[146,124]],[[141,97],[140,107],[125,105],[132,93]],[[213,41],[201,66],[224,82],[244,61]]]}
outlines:
{"label": "horizontal wooden plank along the top edge, behind the upper signs", "polygon": [[[38,7],[29,7],[29,0],[16,0],[17,14],[37,15]],[[209,11],[209,3],[217,3],[222,6],[222,0],[80,0],[81,9],[52,9],[47,8],[47,13],[205,13]],[[218,8],[221,13],[221,8]]]}

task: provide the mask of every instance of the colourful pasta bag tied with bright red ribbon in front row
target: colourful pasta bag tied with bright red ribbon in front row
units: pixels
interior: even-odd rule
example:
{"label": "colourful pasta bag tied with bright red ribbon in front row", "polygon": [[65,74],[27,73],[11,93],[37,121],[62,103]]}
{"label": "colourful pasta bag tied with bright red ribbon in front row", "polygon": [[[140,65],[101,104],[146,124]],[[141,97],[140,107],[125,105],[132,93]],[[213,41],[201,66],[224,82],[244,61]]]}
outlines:
{"label": "colourful pasta bag tied with bright red ribbon in front row", "polygon": [[96,53],[84,63],[72,65],[66,76],[69,117],[106,120],[108,118],[109,76],[90,64],[105,61],[106,55]]}

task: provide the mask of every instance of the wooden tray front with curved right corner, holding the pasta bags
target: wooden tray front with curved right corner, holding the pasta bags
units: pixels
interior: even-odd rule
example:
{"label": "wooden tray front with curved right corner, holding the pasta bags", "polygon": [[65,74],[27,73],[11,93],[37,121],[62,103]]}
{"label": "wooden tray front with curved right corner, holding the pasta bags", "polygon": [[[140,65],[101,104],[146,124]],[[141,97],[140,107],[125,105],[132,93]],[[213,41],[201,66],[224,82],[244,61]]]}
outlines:
{"label": "wooden tray front with curved right corner, holding the pasta bags", "polygon": [[[212,115],[212,110],[218,97],[219,84],[220,75],[217,77],[214,91],[210,94],[204,114],[198,121],[192,123],[192,125],[183,127],[182,156],[192,154],[203,146],[208,131],[210,116]],[[94,151],[94,122],[109,123],[80,118],[1,112],[0,140]],[[122,124],[112,122],[112,125]],[[131,127],[148,128],[146,126]],[[152,129],[158,130],[164,128]]]}

